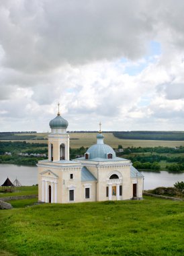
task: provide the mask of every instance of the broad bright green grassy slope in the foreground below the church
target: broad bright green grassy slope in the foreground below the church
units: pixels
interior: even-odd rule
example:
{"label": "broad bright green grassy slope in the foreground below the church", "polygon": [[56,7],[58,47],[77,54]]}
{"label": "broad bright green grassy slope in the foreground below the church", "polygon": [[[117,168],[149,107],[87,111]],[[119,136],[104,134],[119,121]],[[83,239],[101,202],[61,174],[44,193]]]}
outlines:
{"label": "broad bright green grassy slope in the foreground below the church", "polygon": [[184,202],[43,204],[2,210],[0,250],[15,255],[183,255]]}

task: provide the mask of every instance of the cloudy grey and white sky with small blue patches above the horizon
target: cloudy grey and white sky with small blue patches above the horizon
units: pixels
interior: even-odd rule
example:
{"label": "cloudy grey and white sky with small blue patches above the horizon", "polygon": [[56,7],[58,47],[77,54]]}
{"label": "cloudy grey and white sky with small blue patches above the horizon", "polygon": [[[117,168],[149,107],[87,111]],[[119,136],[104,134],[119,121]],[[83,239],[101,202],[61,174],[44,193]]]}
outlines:
{"label": "cloudy grey and white sky with small blue patches above the horizon", "polygon": [[184,1],[1,0],[0,131],[183,131]]}

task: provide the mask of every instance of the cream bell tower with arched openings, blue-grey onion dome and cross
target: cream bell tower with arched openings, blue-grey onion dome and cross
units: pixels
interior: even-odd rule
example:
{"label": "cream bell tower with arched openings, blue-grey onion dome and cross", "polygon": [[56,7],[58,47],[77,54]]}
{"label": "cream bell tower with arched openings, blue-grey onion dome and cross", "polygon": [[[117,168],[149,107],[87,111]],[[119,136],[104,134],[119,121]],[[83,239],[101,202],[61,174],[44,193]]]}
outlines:
{"label": "cream bell tower with arched openings, blue-grey onion dome and cross", "polygon": [[50,162],[70,160],[70,140],[66,133],[68,122],[60,116],[59,106],[58,103],[58,115],[49,123],[51,133],[48,135],[48,160]]}

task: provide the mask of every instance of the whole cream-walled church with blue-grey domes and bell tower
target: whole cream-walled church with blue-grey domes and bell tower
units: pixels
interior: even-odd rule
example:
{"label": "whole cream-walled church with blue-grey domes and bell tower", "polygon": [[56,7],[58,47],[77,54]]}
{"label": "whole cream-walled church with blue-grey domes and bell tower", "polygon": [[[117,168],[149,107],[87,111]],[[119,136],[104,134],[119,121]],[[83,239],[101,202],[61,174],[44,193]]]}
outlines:
{"label": "whole cream-walled church with blue-grey domes and bell tower", "polygon": [[45,203],[142,199],[143,175],[130,160],[118,158],[103,142],[101,128],[97,143],[85,156],[70,160],[68,122],[58,115],[49,123],[48,160],[38,162],[38,200]]}

